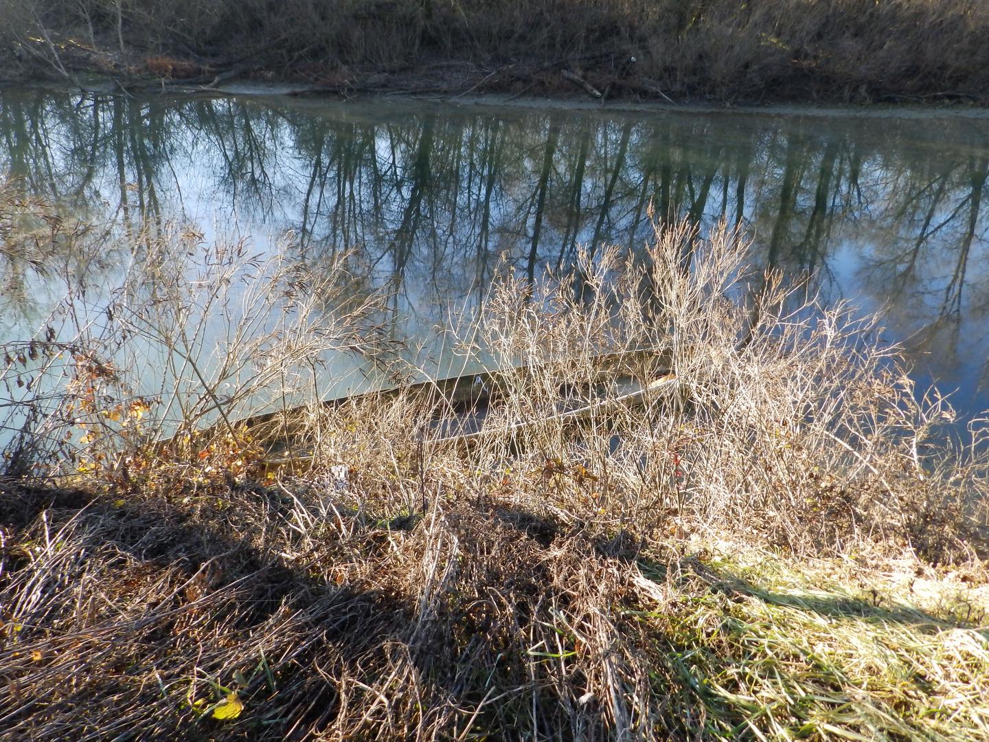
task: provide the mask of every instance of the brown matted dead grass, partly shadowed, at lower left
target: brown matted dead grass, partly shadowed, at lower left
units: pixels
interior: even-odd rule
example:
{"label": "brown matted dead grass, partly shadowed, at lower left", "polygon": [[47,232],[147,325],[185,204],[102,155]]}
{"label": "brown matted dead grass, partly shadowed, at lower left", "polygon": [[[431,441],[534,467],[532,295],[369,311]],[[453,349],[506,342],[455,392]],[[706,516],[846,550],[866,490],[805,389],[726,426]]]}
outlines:
{"label": "brown matted dead grass, partly shadowed, at lower left", "polygon": [[[472,707],[475,725],[510,730],[533,703],[559,737],[556,692],[532,683],[519,641],[548,582],[539,533],[503,513],[451,520],[470,574],[423,603],[421,519],[355,515],[349,538],[292,554],[289,506],[262,488],[183,506],[0,490],[0,740],[359,739],[396,724],[386,736],[405,738],[459,734]],[[481,563],[471,539],[503,556]],[[241,711],[214,718],[230,697]]]}

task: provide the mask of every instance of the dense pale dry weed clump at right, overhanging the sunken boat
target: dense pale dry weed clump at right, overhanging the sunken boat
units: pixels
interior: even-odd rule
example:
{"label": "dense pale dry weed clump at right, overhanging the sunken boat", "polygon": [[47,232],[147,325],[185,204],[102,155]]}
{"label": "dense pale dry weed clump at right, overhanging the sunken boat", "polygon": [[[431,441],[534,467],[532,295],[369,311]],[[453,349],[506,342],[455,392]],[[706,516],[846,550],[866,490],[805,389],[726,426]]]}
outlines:
{"label": "dense pale dry weed clump at right, overhanging the sunken boat", "polygon": [[[607,248],[535,287],[503,275],[454,329],[463,352],[508,369],[473,460],[521,450],[592,471],[598,510],[622,523],[675,513],[794,549],[866,535],[958,548],[942,526],[984,503],[979,432],[950,443],[953,411],[936,391],[918,399],[876,317],[805,301],[746,255],[725,226],[681,226],[642,261]],[[621,360],[602,373],[608,357]],[[628,375],[644,394],[608,401]],[[580,423],[560,414],[582,395]]]}

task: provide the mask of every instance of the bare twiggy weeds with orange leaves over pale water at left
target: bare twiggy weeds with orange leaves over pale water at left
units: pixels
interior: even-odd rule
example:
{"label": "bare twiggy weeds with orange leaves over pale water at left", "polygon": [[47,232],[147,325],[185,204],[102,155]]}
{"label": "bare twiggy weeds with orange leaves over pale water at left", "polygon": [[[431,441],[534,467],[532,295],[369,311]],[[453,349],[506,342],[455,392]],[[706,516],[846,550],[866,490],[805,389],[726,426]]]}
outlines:
{"label": "bare twiggy weeds with orange leaves over pale water at left", "polygon": [[[130,234],[121,247],[108,234],[66,231],[54,216],[43,221],[44,240],[30,221],[10,223],[9,270],[28,246],[48,249],[45,267],[99,249],[125,264],[106,266],[116,286],[60,270],[35,335],[3,343],[9,473],[28,474],[19,462],[30,458],[45,476],[126,475],[130,459],[157,455],[165,440],[170,455],[188,456],[223,438],[236,459],[249,448],[236,423],[319,399],[334,353],[389,345],[381,296],[360,290],[346,255],[314,265],[288,243],[205,245],[174,225]],[[18,302],[5,309],[13,325]]]}

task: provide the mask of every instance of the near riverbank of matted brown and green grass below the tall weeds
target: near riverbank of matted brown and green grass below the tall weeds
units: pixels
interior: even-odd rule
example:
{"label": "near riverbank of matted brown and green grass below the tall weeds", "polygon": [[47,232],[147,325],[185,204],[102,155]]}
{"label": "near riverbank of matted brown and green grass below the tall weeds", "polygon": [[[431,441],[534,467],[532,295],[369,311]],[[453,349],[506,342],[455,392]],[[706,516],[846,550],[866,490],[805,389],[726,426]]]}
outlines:
{"label": "near riverbank of matted brown and green grass below the tall weeds", "polygon": [[0,739],[989,738],[977,562],[358,477],[4,485]]}

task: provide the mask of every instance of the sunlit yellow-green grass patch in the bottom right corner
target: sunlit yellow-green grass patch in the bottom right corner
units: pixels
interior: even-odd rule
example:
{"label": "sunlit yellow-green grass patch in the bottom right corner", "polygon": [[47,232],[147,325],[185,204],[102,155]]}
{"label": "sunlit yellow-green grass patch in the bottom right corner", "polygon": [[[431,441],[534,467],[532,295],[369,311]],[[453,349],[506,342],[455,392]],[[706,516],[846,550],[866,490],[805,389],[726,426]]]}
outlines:
{"label": "sunlit yellow-green grass patch in the bottom right corner", "polygon": [[[680,688],[703,698],[709,738],[986,738],[984,571],[959,583],[931,580],[907,555],[865,566],[715,548],[696,565],[708,595],[684,604],[682,589],[644,590],[661,606],[649,620],[677,650]],[[910,587],[918,573],[923,597]]]}

